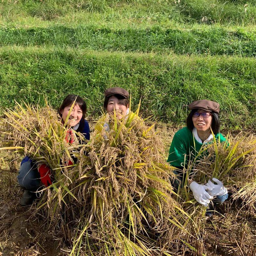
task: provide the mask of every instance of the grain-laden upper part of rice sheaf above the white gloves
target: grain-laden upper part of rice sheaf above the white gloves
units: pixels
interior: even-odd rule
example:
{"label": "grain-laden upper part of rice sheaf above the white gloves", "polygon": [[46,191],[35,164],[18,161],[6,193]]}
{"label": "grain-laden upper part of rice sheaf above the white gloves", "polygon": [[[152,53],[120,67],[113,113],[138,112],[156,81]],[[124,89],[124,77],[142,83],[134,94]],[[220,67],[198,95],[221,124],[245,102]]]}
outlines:
{"label": "grain-laden upper part of rice sheaf above the white gloves", "polygon": [[204,183],[206,178],[218,178],[233,199],[241,199],[251,212],[256,212],[256,138],[238,134],[229,138],[228,144],[214,140],[204,150],[208,155],[191,165],[193,179]]}

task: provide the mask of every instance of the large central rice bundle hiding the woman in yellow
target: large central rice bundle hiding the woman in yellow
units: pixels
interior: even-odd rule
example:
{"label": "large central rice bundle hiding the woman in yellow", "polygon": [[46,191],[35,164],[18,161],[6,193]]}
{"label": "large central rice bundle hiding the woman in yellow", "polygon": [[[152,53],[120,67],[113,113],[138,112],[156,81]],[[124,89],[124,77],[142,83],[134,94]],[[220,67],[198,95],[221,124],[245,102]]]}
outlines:
{"label": "large central rice bundle hiding the woman in yellow", "polygon": [[78,161],[74,172],[79,175],[68,186],[76,199],[69,197],[68,207],[61,202],[63,223],[75,237],[71,254],[160,255],[168,250],[180,233],[169,221],[179,207],[171,197],[172,167],[153,126],[146,127],[138,114],[121,121],[107,114]]}

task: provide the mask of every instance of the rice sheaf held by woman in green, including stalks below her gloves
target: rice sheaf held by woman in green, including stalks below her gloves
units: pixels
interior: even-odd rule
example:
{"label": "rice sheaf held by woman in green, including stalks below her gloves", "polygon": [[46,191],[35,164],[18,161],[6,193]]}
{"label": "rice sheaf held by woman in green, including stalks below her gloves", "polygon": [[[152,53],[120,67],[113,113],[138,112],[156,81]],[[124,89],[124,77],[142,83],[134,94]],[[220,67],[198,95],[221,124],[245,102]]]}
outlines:
{"label": "rice sheaf held by woman in green, including stalks below her gloves", "polygon": [[[241,208],[246,206],[251,213],[256,212],[256,140],[253,136],[241,136],[229,139],[227,143],[213,140],[204,145],[196,157],[188,162],[187,177],[199,184],[204,184],[209,178],[218,178],[231,192],[233,200],[239,199]],[[198,157],[200,156],[200,157]],[[176,200],[190,218],[179,218],[179,223],[186,227],[187,234],[183,239],[183,249],[196,252],[196,255],[206,253],[204,248],[205,212],[206,208],[195,202],[189,191],[188,180],[177,191]],[[231,201],[233,201],[231,200]],[[186,215],[186,216],[187,216]],[[185,217],[186,217],[185,216]],[[193,236],[191,236],[191,235]],[[196,239],[195,239],[196,238]],[[177,243],[180,246],[182,243]],[[201,245],[201,246],[200,246]],[[180,247],[181,249],[182,247]]]}

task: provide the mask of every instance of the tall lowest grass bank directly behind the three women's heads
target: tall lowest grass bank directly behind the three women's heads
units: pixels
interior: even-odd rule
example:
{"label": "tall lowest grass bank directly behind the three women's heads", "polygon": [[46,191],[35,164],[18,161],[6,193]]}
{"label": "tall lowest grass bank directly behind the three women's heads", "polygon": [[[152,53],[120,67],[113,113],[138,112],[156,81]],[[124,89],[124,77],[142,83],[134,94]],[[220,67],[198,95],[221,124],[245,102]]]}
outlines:
{"label": "tall lowest grass bank directly behind the three women's heads", "polygon": [[104,90],[122,86],[135,108],[153,120],[183,124],[188,104],[210,99],[221,105],[222,127],[255,129],[256,60],[111,53],[70,48],[4,47],[0,50],[0,106],[27,99],[54,107],[68,93],[83,96],[97,117]]}

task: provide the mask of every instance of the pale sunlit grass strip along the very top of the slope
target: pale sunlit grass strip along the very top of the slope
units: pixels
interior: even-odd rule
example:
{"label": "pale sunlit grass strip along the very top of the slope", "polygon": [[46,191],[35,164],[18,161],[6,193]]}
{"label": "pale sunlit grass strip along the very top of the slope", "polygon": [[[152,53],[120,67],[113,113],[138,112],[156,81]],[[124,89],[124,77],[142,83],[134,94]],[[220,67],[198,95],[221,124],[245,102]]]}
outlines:
{"label": "pale sunlit grass strip along the very top of the slope", "polygon": [[24,19],[62,21],[96,20],[108,23],[207,23],[255,25],[255,0],[187,1],[113,1],[113,0],[4,0],[0,7],[2,22],[19,24]]}

